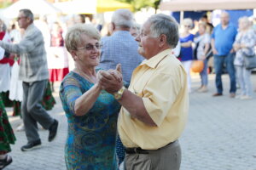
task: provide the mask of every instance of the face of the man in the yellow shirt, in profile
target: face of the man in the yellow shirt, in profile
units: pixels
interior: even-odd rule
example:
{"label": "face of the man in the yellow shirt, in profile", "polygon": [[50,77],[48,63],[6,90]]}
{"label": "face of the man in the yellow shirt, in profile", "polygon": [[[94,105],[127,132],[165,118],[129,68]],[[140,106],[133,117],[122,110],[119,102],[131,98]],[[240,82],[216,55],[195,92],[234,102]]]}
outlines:
{"label": "face of the man in the yellow shirt, in profile", "polygon": [[150,23],[146,22],[141,33],[136,37],[139,42],[138,53],[143,55],[145,59],[150,59],[155,54],[158,54],[158,37],[152,37],[150,33]]}

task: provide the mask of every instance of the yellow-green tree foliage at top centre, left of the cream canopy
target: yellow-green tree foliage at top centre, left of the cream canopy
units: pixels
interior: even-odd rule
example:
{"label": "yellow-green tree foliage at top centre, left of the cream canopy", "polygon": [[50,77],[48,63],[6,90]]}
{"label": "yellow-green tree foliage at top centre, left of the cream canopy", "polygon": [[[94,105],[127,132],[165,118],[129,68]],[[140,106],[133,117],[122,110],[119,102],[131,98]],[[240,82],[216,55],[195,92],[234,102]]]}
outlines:
{"label": "yellow-green tree foliage at top centre, left of the cream canopy", "polygon": [[134,11],[139,11],[141,8],[152,7],[155,9],[159,8],[160,0],[118,0],[123,3],[130,3]]}

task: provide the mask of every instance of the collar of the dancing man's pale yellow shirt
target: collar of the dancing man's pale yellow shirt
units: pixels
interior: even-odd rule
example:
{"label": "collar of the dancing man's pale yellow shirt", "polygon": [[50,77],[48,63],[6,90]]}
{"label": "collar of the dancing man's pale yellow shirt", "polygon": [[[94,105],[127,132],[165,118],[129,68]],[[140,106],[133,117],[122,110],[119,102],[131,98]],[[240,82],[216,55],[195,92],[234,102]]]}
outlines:
{"label": "collar of the dancing man's pale yellow shirt", "polygon": [[150,59],[145,59],[143,60],[141,65],[148,65],[151,68],[155,68],[162,59],[164,59],[166,57],[166,55],[172,54],[172,49],[168,48],[162,52],[160,52],[159,54],[154,55],[154,57],[150,58]]}

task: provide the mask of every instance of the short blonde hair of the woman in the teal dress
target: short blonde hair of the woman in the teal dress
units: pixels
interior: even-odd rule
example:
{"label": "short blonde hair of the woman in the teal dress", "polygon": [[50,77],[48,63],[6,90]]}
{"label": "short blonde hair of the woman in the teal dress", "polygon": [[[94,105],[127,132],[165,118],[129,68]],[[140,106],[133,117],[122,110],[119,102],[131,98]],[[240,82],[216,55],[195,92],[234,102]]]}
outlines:
{"label": "short blonde hair of the woman in the teal dress", "polygon": [[75,24],[67,30],[65,37],[65,47],[69,53],[71,53],[72,50],[78,49],[79,44],[82,42],[82,34],[95,38],[96,40],[101,39],[101,34],[95,26],[90,24]]}

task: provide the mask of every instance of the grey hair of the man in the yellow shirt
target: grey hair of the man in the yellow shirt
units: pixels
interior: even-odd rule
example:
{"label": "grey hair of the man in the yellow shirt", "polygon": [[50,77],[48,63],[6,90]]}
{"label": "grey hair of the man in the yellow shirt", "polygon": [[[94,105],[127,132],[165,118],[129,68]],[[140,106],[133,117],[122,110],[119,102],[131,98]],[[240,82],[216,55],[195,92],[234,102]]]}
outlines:
{"label": "grey hair of the man in the yellow shirt", "polygon": [[154,14],[148,19],[150,23],[151,36],[159,37],[161,34],[166,35],[166,41],[175,48],[179,39],[177,21],[166,14]]}

